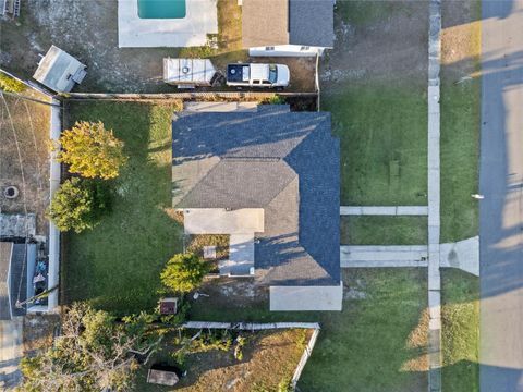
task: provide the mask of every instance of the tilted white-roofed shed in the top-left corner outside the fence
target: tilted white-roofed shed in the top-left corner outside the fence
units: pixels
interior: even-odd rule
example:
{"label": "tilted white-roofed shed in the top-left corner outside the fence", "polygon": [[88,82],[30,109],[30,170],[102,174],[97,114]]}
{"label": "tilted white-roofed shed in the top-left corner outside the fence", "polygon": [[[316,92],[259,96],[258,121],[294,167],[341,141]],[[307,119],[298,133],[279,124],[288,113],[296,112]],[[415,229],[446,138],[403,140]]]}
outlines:
{"label": "tilted white-roofed shed in the top-left corner outside the fence", "polygon": [[69,93],[76,83],[82,83],[87,74],[86,68],[85,64],[53,45],[41,58],[33,77],[54,91]]}

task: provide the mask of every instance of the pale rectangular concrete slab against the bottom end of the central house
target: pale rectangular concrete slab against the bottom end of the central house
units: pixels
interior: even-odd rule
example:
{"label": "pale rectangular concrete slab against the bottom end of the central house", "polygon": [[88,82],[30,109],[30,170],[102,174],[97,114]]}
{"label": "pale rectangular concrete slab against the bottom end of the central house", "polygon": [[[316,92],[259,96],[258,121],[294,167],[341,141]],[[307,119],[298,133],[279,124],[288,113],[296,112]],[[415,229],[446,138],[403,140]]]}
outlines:
{"label": "pale rectangular concrete slab against the bottom end of the central house", "polygon": [[341,310],[343,284],[337,286],[270,286],[270,310]]}

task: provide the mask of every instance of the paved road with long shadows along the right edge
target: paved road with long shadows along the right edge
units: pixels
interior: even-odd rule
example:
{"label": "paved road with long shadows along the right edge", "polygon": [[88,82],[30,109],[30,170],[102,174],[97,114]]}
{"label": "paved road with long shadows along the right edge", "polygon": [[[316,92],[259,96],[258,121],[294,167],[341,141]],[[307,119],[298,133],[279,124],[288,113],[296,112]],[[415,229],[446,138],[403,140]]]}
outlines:
{"label": "paved road with long shadows along the right edge", "polygon": [[523,0],[483,1],[481,391],[523,391]]}

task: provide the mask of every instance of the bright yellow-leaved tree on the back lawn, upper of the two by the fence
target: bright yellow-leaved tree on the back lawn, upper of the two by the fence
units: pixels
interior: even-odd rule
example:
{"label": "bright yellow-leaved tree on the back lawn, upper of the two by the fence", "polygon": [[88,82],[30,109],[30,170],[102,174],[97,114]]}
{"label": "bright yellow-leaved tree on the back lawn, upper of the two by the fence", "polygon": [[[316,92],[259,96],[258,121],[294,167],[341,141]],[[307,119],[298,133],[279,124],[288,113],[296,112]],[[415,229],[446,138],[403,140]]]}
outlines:
{"label": "bright yellow-leaved tree on the back lawn, upper of the two by the fence", "polygon": [[53,145],[57,160],[69,164],[71,173],[87,179],[114,179],[126,162],[123,142],[106,130],[101,121],[97,123],[80,121],[71,130],[64,131]]}

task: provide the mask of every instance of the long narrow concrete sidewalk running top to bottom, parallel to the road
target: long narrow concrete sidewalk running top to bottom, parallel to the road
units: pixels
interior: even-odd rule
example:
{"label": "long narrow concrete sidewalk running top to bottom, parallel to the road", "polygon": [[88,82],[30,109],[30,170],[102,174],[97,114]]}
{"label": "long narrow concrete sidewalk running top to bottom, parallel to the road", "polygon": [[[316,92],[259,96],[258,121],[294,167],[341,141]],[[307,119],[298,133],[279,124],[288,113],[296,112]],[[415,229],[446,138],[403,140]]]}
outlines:
{"label": "long narrow concrete sidewalk running top to bottom, parallel to the road", "polygon": [[441,2],[429,2],[428,32],[428,387],[441,391],[440,107]]}

